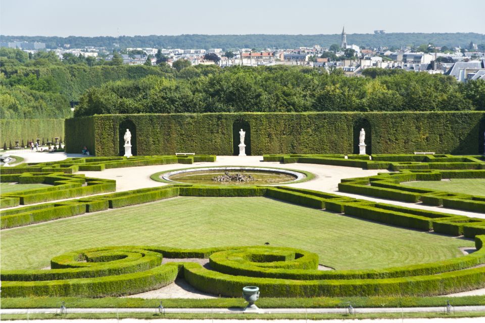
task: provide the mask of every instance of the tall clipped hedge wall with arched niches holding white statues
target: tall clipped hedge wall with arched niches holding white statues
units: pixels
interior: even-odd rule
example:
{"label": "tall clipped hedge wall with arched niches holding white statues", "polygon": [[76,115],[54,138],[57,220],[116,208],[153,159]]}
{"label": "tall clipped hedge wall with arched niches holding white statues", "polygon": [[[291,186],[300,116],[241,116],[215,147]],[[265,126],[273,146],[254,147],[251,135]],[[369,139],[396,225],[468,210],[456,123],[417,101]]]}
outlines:
{"label": "tall clipped hedge wall with arched niches holding white statues", "polygon": [[66,141],[72,143],[68,152],[88,144],[98,156],[118,155],[118,127],[127,119],[136,125],[138,155],[232,155],[232,126],[240,121],[250,125],[253,155],[351,154],[354,123],[362,119],[371,126],[373,154],[426,151],[459,155],[483,151],[485,112],[94,115],[66,119]]}

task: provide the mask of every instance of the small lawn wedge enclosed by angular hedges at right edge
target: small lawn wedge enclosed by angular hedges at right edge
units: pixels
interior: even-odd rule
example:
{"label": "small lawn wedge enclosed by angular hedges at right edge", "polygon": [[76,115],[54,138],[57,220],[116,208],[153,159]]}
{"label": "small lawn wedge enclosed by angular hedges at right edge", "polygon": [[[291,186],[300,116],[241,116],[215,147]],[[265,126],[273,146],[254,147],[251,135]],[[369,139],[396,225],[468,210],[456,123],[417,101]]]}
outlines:
{"label": "small lawn wedge enclosed by angular hedges at right edge", "polygon": [[408,181],[401,184],[421,189],[485,196],[485,178],[452,178],[450,180]]}

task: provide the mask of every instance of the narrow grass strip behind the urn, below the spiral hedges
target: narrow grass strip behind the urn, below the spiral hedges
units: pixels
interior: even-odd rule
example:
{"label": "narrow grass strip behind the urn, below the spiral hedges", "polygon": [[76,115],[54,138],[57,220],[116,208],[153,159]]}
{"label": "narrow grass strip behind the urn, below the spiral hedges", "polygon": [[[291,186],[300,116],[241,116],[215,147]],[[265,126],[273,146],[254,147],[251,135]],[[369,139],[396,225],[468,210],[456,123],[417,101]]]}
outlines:
{"label": "narrow grass strip behind the urn, below the spiral hedges", "polygon": [[[271,298],[261,297],[260,308],[340,308],[354,307],[430,307],[444,306],[446,301],[454,306],[485,305],[485,296],[461,297],[313,297],[313,298]],[[19,297],[3,298],[2,308],[58,308],[62,302],[70,308],[155,308],[162,301],[166,308],[235,308],[248,305],[240,298],[213,299],[142,299],[142,298],[80,298],[80,297]]]}

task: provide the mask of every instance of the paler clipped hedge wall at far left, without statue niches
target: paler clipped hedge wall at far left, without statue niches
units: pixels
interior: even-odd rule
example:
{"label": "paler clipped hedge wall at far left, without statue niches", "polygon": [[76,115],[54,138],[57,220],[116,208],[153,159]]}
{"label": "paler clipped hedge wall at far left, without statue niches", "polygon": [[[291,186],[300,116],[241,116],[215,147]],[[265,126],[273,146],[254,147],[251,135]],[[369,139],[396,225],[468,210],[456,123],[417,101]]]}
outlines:
{"label": "paler clipped hedge wall at far left, without statue niches", "polygon": [[2,119],[0,120],[0,142],[9,146],[18,140],[27,145],[27,140],[62,137],[64,141],[64,119]]}

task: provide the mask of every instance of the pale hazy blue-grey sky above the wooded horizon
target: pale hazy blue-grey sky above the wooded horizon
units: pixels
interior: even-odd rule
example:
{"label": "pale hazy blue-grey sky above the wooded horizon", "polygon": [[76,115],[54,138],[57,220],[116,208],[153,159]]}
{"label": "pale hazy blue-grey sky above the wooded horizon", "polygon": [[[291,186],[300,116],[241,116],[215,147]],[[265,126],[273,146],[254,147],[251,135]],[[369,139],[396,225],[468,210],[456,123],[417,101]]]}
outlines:
{"label": "pale hazy blue-grey sky above the wooded horizon", "polygon": [[64,37],[334,34],[343,25],[347,33],[374,29],[485,33],[483,12],[485,0],[0,0],[0,33]]}

